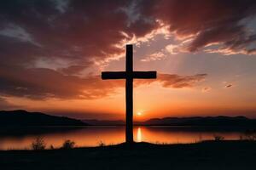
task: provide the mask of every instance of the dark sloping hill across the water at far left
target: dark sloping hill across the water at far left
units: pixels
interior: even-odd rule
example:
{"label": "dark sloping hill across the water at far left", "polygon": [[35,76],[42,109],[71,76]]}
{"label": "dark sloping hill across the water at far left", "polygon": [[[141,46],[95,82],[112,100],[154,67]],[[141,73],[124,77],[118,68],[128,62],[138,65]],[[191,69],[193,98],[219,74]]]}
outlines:
{"label": "dark sloping hill across the water at far left", "polygon": [[28,127],[28,126],[84,126],[85,122],[64,117],[49,116],[39,112],[0,111],[0,127]]}

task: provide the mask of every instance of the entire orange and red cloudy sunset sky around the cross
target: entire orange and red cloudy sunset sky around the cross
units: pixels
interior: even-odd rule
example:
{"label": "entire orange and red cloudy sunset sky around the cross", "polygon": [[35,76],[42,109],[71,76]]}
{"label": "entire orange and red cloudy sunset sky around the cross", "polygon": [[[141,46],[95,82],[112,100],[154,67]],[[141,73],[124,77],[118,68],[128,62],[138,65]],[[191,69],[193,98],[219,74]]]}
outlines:
{"label": "entire orange and red cloudy sunset sky around the cross", "polygon": [[256,118],[255,0],[0,1],[0,110],[125,118],[125,44],[136,120]]}

